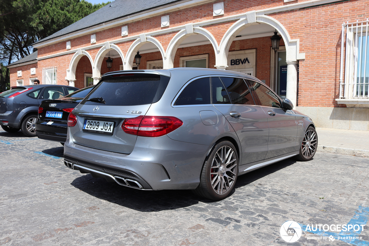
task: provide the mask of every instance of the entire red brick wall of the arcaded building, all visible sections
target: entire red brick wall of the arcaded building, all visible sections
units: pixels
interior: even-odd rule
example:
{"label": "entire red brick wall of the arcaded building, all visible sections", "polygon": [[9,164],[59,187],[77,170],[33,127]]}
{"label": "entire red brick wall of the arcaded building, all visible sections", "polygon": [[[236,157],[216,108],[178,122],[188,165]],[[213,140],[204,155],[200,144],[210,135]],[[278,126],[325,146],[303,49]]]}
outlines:
{"label": "entire red brick wall of the arcaded building, all visible sections", "polygon": [[[213,17],[212,14],[213,3],[215,2],[216,1],[168,13],[170,16],[170,27],[219,18]],[[293,3],[297,2],[298,1],[294,1]],[[261,10],[267,7],[282,6],[286,4],[290,3],[283,3],[281,0],[225,0],[224,16],[246,13],[247,11]],[[300,39],[300,52],[304,52],[306,54],[306,59],[299,61],[298,106],[342,107],[342,105],[338,105],[335,101],[335,99],[338,98],[339,93],[338,80],[341,47],[341,24],[347,20],[364,20],[366,17],[368,17],[368,6],[369,0],[349,0],[335,4],[326,4],[323,6],[269,15],[270,17],[273,17],[282,23],[282,25],[288,31],[291,39]],[[230,27],[232,23],[234,23],[234,21],[211,25],[205,28],[207,28],[207,30],[209,30],[219,42],[227,28]],[[119,26],[110,28],[109,30],[97,32],[97,43],[103,43],[107,40],[121,38],[120,28],[121,27]],[[148,19],[128,24],[129,36],[134,36],[141,33],[149,33],[151,31],[161,29],[166,28],[160,27],[160,16],[150,17]],[[169,33],[158,35],[156,38],[162,42],[164,49],[166,49],[170,39],[174,35],[175,33]],[[91,45],[90,34],[75,38],[71,41],[72,49],[77,47],[88,47]],[[121,48],[123,54],[126,55],[132,42],[134,42],[134,40],[117,45]],[[283,44],[281,43],[281,45]],[[256,77],[265,80],[267,84],[270,84],[269,37],[234,41],[231,45],[230,51],[254,48],[256,49]],[[99,49],[100,47],[89,50],[93,58],[96,56]],[[65,41],[62,41],[55,45],[49,45],[48,47],[40,48],[38,51],[38,57],[65,51]],[[209,68],[214,68],[215,55],[213,47],[210,44],[178,49],[175,55],[174,66],[179,67],[180,57],[200,54],[209,54]],[[158,52],[142,55],[143,58],[141,62],[141,68],[146,68],[146,61],[162,59]],[[58,83],[66,83],[64,77],[72,56],[73,54],[68,54],[60,57],[40,60],[38,62],[38,77],[41,78],[42,68],[48,66],[57,66]],[[117,63],[113,61],[113,66],[115,66],[114,64]],[[121,61],[119,64],[121,64]],[[85,65],[81,64],[79,66],[82,66],[80,69],[83,68],[84,71]],[[105,66],[104,62],[102,66]],[[23,67],[20,68],[22,68],[22,70],[28,69]],[[12,85],[14,85],[16,80],[16,71],[20,70],[20,68],[11,69]],[[119,67],[114,67],[114,69],[118,70]],[[107,71],[103,69],[101,74],[104,72]],[[77,80],[79,81],[80,79]]]}

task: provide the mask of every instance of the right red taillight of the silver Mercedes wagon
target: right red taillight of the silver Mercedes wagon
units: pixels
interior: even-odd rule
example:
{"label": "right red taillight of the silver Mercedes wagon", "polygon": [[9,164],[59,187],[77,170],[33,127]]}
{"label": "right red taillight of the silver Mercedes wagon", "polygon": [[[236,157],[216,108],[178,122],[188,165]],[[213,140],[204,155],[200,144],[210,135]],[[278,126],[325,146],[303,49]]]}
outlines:
{"label": "right red taillight of the silver Mercedes wagon", "polygon": [[122,129],[125,133],[142,137],[160,137],[182,126],[182,120],[172,116],[138,116],[125,119]]}

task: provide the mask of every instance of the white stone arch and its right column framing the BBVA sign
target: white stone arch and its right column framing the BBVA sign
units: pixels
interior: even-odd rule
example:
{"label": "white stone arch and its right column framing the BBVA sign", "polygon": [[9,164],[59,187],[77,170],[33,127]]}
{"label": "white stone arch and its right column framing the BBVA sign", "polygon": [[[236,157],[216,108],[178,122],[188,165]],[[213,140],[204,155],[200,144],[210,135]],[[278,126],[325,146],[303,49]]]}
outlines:
{"label": "white stone arch and its right column framing the BBVA sign", "polygon": [[225,32],[221,42],[220,42],[220,55],[218,60],[216,60],[217,68],[227,67],[227,55],[228,50],[232,44],[232,41],[237,36],[237,34],[244,28],[256,24],[265,23],[273,28],[275,28],[278,33],[282,36],[284,44],[286,46],[286,60],[287,60],[287,94],[286,97],[289,98],[293,105],[296,106],[297,102],[297,63],[299,59],[305,59],[305,53],[300,53],[300,40],[291,39],[288,31],[284,26],[277,21],[275,18],[265,15],[256,15],[256,12],[246,13],[244,18],[241,18],[236,23],[234,23]]}

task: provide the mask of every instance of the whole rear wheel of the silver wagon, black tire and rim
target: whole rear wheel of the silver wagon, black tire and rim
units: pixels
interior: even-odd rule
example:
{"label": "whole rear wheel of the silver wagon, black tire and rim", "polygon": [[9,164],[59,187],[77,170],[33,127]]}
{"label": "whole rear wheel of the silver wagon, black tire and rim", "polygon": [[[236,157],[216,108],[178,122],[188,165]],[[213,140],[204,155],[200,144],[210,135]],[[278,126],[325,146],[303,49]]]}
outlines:
{"label": "whole rear wheel of the silver wagon, black tire and rim", "polygon": [[200,174],[200,184],[194,190],[196,195],[211,200],[228,197],[238,175],[238,154],[230,141],[215,144]]}

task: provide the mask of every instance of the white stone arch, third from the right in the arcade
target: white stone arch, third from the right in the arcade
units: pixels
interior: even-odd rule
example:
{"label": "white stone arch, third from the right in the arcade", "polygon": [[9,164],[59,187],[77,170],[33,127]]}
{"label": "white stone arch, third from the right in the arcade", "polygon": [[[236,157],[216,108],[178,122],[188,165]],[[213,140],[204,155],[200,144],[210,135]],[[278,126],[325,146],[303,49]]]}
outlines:
{"label": "white stone arch, third from the right in the arcade", "polygon": [[146,37],[146,34],[140,34],[140,38],[135,40],[131,44],[130,48],[128,48],[126,59],[123,63],[124,70],[132,69],[133,60],[135,59],[135,55],[137,54],[138,49],[141,48],[142,45],[146,44],[146,42],[151,42],[155,44],[156,47],[158,47],[160,54],[162,55],[163,62],[164,62],[165,52],[164,52],[164,48],[161,45],[161,43],[154,37],[151,37],[151,36]]}

